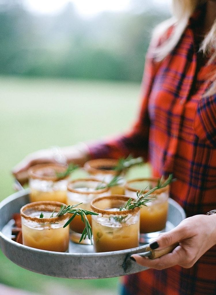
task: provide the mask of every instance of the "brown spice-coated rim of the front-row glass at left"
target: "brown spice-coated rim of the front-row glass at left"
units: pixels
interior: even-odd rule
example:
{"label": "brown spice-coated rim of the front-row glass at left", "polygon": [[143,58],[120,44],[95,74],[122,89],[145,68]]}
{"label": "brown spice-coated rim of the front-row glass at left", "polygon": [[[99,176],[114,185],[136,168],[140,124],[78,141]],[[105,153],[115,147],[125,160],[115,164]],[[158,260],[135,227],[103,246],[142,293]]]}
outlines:
{"label": "brown spice-coated rim of the front-row glass at left", "polygon": [[40,218],[40,217],[29,216],[29,215],[25,214],[24,211],[26,209],[30,209],[30,208],[34,209],[35,208],[35,211],[49,211],[52,213],[55,208],[60,209],[61,205],[67,206],[64,203],[56,202],[56,201],[32,202],[32,203],[28,203],[28,204],[22,206],[22,208],[20,209],[20,214],[21,214],[21,217],[23,217],[24,219],[26,219],[28,221],[37,222],[37,223],[41,223],[41,224],[42,223],[55,223],[55,222],[62,221],[66,218],[69,218],[70,213],[66,213],[66,214],[63,214],[63,215],[60,215],[57,217]]}

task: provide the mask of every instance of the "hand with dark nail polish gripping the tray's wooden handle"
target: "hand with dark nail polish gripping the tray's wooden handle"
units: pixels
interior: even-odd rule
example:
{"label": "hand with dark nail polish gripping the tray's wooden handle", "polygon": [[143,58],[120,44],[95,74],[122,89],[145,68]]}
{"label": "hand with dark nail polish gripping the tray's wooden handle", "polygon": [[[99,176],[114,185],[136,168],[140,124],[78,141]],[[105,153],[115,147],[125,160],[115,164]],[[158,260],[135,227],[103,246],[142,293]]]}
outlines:
{"label": "hand with dark nail polish gripping the tray's wooden handle", "polygon": [[188,217],[173,230],[159,235],[150,245],[161,250],[177,242],[179,246],[171,253],[153,260],[138,254],[133,254],[131,257],[142,266],[158,270],[174,265],[184,268],[192,267],[207,250],[216,244],[216,214]]}

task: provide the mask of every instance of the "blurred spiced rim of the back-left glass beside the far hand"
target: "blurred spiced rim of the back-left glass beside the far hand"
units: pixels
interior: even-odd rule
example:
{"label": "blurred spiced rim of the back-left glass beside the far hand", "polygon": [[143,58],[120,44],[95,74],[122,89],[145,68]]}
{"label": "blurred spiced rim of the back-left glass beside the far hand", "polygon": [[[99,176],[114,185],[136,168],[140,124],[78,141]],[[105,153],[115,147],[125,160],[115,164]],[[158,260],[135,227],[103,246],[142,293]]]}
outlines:
{"label": "blurred spiced rim of the back-left glass beside the far hand", "polygon": [[68,168],[67,165],[61,165],[58,163],[42,163],[42,164],[36,164],[33,165],[32,167],[30,167],[28,169],[28,177],[31,179],[40,179],[40,180],[46,180],[46,181],[58,181],[58,180],[62,180],[62,179],[66,179],[68,178],[68,175],[66,177],[57,177],[57,176],[49,176],[49,175],[40,175],[37,174],[36,171],[38,170],[43,170],[45,168],[51,168],[51,169],[56,169],[57,173],[61,173],[66,171],[66,169]]}

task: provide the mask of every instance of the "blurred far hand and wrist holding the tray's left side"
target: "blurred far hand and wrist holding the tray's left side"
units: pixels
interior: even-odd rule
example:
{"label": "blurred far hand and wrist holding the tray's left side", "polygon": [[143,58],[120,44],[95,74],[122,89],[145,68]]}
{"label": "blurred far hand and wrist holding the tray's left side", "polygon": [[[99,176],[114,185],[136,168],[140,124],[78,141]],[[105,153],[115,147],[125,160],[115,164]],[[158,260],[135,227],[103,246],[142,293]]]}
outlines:
{"label": "blurred far hand and wrist holding the tray's left side", "polygon": [[27,155],[12,169],[12,174],[21,185],[24,185],[28,180],[27,171],[33,165],[42,163],[60,163],[66,165],[74,163],[83,166],[88,160],[89,149],[84,143],[64,148],[53,147],[50,149],[38,150]]}

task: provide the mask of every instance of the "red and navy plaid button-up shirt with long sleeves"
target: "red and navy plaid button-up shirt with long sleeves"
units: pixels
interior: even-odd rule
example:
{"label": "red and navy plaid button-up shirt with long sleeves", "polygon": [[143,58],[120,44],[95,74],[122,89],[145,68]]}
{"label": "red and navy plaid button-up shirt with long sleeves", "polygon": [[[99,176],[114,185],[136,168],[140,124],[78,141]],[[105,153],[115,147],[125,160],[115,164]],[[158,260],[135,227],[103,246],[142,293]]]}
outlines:
{"label": "red and navy plaid button-up shirt with long sleeves", "polygon": [[[142,104],[132,131],[90,147],[92,158],[141,155],[150,161],[154,176],[173,173],[177,181],[170,196],[187,217],[216,209],[216,94],[203,96],[216,62],[207,64],[206,59],[197,71],[194,32],[200,13],[194,18],[162,62],[155,62],[149,49]],[[216,247],[192,268],[149,269],[125,276],[124,284],[125,295],[215,295]]]}

